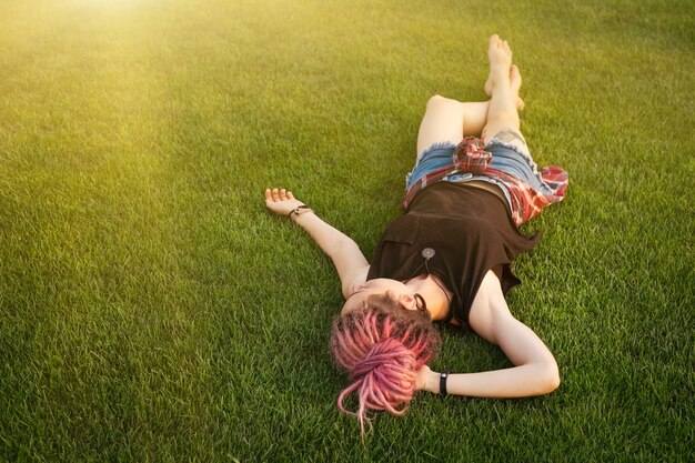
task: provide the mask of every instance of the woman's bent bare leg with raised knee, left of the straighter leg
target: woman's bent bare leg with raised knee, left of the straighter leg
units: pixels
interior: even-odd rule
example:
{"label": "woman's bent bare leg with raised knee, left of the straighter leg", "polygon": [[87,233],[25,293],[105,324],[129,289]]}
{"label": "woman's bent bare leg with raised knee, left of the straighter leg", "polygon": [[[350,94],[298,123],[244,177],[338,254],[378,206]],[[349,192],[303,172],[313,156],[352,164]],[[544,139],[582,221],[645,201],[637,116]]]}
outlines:
{"label": "woman's bent bare leg with raised knee, left of the straighter leg", "polygon": [[449,141],[457,144],[464,137],[480,137],[488,111],[490,101],[462,103],[440,95],[432,97],[420,124],[417,154],[433,143]]}

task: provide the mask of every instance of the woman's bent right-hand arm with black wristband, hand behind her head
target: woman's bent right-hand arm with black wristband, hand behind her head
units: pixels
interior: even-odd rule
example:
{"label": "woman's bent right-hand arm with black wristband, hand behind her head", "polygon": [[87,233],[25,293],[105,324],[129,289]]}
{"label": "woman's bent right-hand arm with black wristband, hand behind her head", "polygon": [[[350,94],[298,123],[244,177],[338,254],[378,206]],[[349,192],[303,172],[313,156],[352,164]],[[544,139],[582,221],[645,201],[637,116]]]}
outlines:
{"label": "woman's bent right-hand arm with black wristband, hand behind her head", "polygon": [[[525,397],[542,395],[560,385],[557,363],[543,341],[516,320],[504,300],[500,280],[488,271],[473,302],[471,328],[500,345],[514,366],[481,373],[450,374],[446,392],[476,397]],[[423,366],[417,389],[440,393],[440,373]]]}

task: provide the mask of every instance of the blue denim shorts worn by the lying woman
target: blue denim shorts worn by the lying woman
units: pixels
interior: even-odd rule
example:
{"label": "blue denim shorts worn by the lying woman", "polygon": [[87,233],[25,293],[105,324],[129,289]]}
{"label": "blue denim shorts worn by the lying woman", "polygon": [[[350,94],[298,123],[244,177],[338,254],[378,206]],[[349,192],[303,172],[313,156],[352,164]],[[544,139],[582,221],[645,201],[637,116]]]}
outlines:
{"label": "blue denim shorts worn by the lying woman", "polygon": [[[514,140],[521,140],[523,147],[512,144]],[[454,150],[456,145],[452,142],[434,143],[430,148],[426,148],[417,155],[415,167],[405,175],[405,191],[420,179],[436,169],[440,169],[452,162]],[[487,167],[508,173],[524,182],[540,193],[551,193],[552,190],[543,181],[538,167],[531,158],[526,141],[515,130],[503,130],[493,137],[485,145],[485,151],[492,153],[492,160]],[[510,209],[512,208],[512,199],[506,187],[496,179],[492,179],[486,175],[473,174],[473,173],[456,173],[453,175],[444,177],[443,182],[465,183],[472,180],[479,180],[488,182],[500,187],[504,197],[506,198]]]}

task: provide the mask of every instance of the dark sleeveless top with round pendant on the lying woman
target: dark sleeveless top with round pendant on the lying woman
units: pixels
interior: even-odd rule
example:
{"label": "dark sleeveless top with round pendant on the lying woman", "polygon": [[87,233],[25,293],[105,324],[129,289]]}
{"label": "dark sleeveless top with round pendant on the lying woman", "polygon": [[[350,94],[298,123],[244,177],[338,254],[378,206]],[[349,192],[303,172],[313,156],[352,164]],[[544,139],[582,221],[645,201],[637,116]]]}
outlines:
{"label": "dark sleeveless top with round pendant on the lying woman", "polygon": [[367,280],[409,280],[432,273],[454,294],[447,320],[469,324],[483,278],[493,270],[506,294],[521,281],[510,266],[541,235],[522,235],[502,199],[490,191],[451,182],[422,190],[407,211],[383,233]]}

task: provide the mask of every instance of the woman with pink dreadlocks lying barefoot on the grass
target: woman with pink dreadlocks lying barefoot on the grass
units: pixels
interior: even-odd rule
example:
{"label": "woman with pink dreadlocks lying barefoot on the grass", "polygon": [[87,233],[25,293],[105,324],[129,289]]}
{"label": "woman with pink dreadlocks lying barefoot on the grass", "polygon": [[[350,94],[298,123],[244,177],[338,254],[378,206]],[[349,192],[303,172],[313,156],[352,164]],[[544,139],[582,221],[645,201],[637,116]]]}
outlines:
{"label": "woman with pink dreadlocks lying barefoot on the grass", "polygon": [[[338,400],[362,429],[367,409],[400,415],[415,391],[477,397],[523,397],[555,390],[557,364],[543,341],[516,320],[504,294],[520,283],[511,261],[538,235],[517,227],[564,198],[567,174],[537,172],[520,132],[522,83],[506,41],[492,36],[485,102],[433,97],[406,178],[405,213],[391,222],[370,265],[349,236],[284,189],[265,204],[290,215],[332,259],[346,301],[331,348],[352,384]],[[475,137],[482,137],[485,142]],[[439,344],[432,321],[467,326],[500,345],[513,368],[437,373],[427,366]],[[345,410],[356,392],[359,410]]]}

